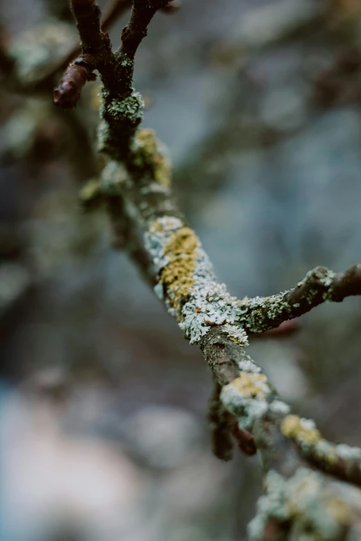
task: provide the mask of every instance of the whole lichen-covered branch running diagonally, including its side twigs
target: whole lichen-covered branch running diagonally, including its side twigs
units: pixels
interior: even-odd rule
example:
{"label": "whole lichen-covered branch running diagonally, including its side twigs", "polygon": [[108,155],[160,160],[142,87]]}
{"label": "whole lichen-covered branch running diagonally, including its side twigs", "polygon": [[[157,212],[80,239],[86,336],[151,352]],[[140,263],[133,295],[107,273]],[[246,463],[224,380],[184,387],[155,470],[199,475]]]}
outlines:
{"label": "whole lichen-covered branch running diagonally, including its side twigs", "polygon": [[[265,299],[240,301],[216,280],[201,241],[172,198],[163,145],[153,131],[139,129],[143,104],[133,91],[133,56],[154,13],[166,5],[133,0],[122,48],[115,55],[110,51],[107,74],[97,67],[103,82],[98,146],[105,162],[100,191],[115,238],[131,254],[142,238],[147,263],[133,260],[151,277],[154,292],[212,370],[209,415],[216,454],[229,459],[234,441],[247,454],[259,454],[265,495],[250,523],[250,540],[359,539],[361,492],[323,472],[359,484],[355,472],[361,450],[326,443],[310,421],[292,415],[246,348],[248,332],[277,327],[323,301],[360,294],[360,266],[342,274],[318,267],[294,290]],[[107,44],[102,35],[96,39],[103,55]],[[89,54],[89,48],[83,52]],[[94,194],[98,197],[98,188]]]}

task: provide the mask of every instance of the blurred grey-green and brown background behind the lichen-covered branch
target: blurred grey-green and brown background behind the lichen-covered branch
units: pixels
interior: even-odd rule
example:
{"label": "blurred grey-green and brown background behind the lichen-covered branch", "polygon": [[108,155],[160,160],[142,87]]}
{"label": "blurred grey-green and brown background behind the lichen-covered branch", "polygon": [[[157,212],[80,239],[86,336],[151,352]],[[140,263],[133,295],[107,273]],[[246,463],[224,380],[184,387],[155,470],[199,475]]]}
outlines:
{"label": "blurred grey-green and brown background behind the lichen-covered branch", "polygon": [[[0,540],[245,540],[257,458],[212,456],[201,352],[77,199],[97,172],[98,82],[67,112],[35,88],[78,41],[68,3],[2,0],[0,15]],[[360,46],[360,0],[183,0],[152,21],[144,126],[232,294],[361,260]],[[360,309],[322,305],[250,345],[297,412],[351,445]]]}

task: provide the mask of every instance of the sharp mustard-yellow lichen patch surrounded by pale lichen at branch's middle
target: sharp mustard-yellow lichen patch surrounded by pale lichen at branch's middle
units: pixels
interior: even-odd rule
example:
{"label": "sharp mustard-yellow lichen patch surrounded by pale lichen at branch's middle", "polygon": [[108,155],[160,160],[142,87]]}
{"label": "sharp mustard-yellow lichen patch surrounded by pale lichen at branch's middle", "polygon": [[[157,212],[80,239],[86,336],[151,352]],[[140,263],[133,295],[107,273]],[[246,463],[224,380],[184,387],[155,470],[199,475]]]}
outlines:
{"label": "sharp mustard-yellow lichen patch surrounded by pale lichen at branch's middle", "polygon": [[194,285],[198,246],[198,237],[189,227],[180,227],[165,246],[165,257],[169,263],[160,273],[160,283],[165,284],[169,301],[174,307]]}

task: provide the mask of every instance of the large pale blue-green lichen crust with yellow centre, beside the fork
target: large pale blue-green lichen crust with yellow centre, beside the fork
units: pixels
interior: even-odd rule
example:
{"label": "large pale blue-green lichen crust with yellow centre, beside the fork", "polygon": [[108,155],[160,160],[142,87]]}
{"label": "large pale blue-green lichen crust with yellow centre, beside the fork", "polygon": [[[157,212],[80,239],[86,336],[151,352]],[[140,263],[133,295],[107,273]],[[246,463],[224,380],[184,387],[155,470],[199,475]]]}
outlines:
{"label": "large pale blue-green lichen crust with yellow centre, beside the fork", "polygon": [[[178,218],[158,218],[145,234],[145,245],[165,289],[169,313],[176,316],[190,343],[198,342],[212,325],[235,325],[242,310],[213,268],[198,237]],[[176,308],[176,310],[175,310]],[[244,332],[232,329],[244,340]]]}

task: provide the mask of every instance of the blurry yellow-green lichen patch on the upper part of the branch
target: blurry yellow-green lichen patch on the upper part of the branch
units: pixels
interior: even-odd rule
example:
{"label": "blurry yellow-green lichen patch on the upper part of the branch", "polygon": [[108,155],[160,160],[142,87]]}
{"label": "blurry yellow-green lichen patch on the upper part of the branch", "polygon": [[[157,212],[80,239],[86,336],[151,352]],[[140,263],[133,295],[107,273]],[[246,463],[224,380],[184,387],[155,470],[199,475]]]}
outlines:
{"label": "blurry yellow-green lichen patch on the upper part of the branch", "polygon": [[136,142],[138,143],[136,164],[139,167],[149,165],[153,170],[154,180],[163,186],[169,186],[171,164],[162,152],[156,132],[151,129],[139,130],[136,133]]}

